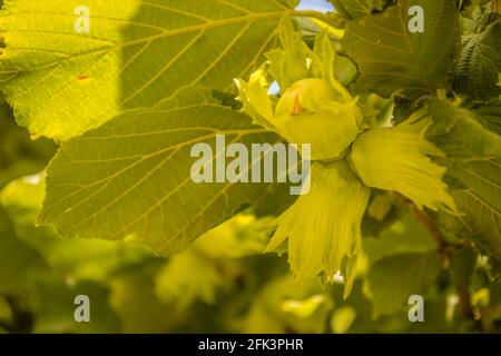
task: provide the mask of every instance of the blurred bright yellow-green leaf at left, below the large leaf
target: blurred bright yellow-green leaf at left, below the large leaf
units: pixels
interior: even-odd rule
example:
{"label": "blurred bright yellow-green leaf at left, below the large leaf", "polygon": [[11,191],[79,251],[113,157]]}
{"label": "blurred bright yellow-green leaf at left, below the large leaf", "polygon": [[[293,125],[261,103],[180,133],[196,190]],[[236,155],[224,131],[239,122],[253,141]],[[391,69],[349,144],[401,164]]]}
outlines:
{"label": "blurred bright yellow-green leaf at left, below the large leaf", "polygon": [[0,191],[0,204],[17,237],[38,251],[51,268],[68,278],[102,281],[127,266],[154,259],[148,248],[122,241],[61,239],[51,228],[37,227],[45,188],[41,175],[13,180]]}

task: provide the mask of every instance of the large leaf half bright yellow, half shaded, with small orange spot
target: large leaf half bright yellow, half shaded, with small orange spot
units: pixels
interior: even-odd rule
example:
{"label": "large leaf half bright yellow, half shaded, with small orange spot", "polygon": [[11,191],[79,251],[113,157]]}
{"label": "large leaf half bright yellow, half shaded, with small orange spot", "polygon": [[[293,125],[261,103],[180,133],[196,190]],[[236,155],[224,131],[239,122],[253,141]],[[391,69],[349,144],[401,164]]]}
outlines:
{"label": "large leaf half bright yellow, half shaded, with small orange spot", "polygon": [[[18,122],[63,141],[189,85],[227,89],[274,42],[285,0],[11,0],[0,75]],[[77,33],[75,11],[90,11]]]}

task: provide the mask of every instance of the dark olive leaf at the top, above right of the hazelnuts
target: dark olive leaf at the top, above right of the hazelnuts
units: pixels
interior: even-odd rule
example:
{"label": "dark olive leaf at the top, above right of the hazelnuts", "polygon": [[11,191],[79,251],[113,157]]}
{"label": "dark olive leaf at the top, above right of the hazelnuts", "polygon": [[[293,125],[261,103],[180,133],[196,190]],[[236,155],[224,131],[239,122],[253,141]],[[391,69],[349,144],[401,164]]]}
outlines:
{"label": "dark olive leaf at the top, above right of the hazelnuts", "polygon": [[[424,32],[411,33],[411,6],[424,10]],[[343,39],[358,65],[363,89],[389,97],[431,93],[446,88],[460,42],[459,16],[451,0],[400,0],[382,14],[350,21]]]}

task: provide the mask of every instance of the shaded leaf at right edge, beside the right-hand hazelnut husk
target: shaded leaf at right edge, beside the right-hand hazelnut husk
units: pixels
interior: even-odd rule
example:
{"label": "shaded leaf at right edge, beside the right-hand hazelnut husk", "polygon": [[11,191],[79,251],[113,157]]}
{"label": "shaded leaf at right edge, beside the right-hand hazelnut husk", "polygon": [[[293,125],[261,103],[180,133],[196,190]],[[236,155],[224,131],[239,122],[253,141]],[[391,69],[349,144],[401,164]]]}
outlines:
{"label": "shaded leaf at right edge, beside the right-hand hazelnut husk", "polygon": [[441,220],[449,230],[473,239],[484,251],[501,258],[501,164],[494,155],[500,149],[500,107],[471,111],[434,101],[430,112],[436,121],[455,121],[449,132],[441,126],[430,131],[448,155],[451,194],[463,214],[444,214]]}

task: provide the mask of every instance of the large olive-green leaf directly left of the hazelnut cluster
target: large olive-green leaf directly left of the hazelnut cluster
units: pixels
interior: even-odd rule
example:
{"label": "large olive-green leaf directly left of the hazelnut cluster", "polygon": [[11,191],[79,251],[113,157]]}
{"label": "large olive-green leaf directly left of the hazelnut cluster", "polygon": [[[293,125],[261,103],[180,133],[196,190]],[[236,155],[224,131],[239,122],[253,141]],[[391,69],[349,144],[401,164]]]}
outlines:
{"label": "large olive-green leaf directly left of the hazelnut cluster", "polygon": [[[266,184],[195,184],[190,149],[216,135],[226,142],[277,142],[250,118],[186,90],[150,109],[126,112],[65,144],[48,168],[40,220],[62,236],[129,237],[168,254],[186,247],[266,192]],[[216,157],[213,157],[214,159]],[[249,162],[252,165],[261,162]]]}

